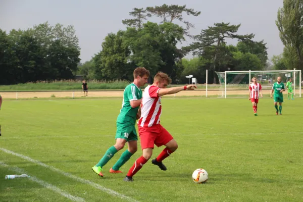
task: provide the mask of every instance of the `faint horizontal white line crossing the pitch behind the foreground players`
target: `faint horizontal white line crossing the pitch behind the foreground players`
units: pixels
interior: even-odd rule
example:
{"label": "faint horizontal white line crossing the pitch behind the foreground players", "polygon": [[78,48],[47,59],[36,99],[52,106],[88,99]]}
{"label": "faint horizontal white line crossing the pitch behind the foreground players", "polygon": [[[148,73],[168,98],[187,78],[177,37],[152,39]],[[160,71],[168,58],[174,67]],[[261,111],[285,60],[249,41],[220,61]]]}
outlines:
{"label": "faint horizontal white line crossing the pitch behind the foreground players", "polygon": [[[172,133],[172,135],[182,136],[197,136],[197,135],[271,135],[271,134],[303,134],[303,132],[268,132],[268,133],[212,133],[212,134],[184,134]],[[114,137],[113,135],[56,135],[56,136],[16,136],[16,137],[1,137],[2,139],[22,139],[22,138],[76,138],[76,137]]]}

